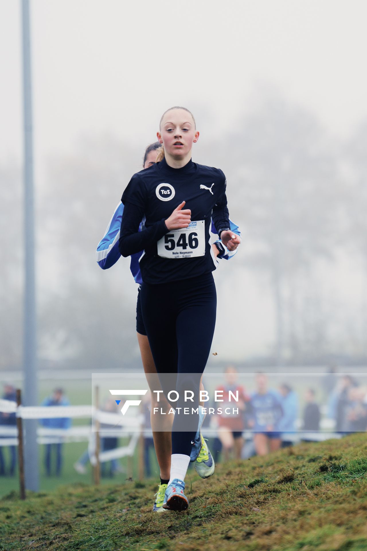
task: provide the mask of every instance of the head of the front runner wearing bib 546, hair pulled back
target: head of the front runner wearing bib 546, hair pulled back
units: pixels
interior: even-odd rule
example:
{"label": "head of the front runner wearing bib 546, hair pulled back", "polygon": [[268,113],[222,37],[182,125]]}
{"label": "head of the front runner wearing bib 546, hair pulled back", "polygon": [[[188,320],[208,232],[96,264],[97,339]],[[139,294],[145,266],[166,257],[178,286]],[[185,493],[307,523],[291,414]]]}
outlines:
{"label": "head of the front runner wearing bib 546, hair pulled back", "polygon": [[184,109],[172,109],[163,117],[160,132],[157,132],[160,142],[163,142],[165,152],[176,159],[187,155],[193,143],[199,139],[193,117]]}

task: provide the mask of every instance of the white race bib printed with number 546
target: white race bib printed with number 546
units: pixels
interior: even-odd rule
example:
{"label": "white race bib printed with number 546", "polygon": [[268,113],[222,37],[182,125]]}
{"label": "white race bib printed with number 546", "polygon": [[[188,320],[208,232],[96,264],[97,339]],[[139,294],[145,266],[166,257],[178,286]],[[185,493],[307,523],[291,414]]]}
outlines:
{"label": "white race bib printed with number 546", "polygon": [[157,242],[158,256],[194,258],[205,255],[205,221],[190,222],[188,228],[171,230]]}

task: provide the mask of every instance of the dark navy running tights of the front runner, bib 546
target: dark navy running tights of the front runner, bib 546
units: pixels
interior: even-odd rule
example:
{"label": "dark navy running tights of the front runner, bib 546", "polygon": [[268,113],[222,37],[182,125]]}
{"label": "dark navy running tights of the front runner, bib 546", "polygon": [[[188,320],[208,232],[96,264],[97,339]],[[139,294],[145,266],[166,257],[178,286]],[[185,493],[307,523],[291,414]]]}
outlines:
{"label": "dark navy running tights of the front runner, bib 546", "polygon": [[[141,312],[168,401],[176,409],[172,453],[190,455],[198,429],[200,377],[210,354],[217,296],[212,273],[180,281],[141,285]],[[176,390],[179,399],[176,401]],[[185,391],[194,401],[184,401]],[[180,410],[178,408],[181,408]],[[184,408],[188,408],[185,410]]]}

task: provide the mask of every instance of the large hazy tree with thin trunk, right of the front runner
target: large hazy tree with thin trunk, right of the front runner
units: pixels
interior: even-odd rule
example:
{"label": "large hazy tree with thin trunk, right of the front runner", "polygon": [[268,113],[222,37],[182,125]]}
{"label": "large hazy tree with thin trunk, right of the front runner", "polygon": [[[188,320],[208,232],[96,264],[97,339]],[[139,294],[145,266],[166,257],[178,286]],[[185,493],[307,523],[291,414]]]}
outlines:
{"label": "large hazy tree with thin trunk, right of the front runner", "polygon": [[[235,185],[234,219],[244,222],[249,246],[242,261],[269,278],[276,316],[277,364],[300,347],[296,300],[318,258],[332,258],[337,227],[335,158],[308,112],[271,99],[238,121],[223,144]],[[228,162],[227,162],[228,165]],[[237,208],[236,208],[237,206]],[[286,317],[289,334],[286,339]]]}

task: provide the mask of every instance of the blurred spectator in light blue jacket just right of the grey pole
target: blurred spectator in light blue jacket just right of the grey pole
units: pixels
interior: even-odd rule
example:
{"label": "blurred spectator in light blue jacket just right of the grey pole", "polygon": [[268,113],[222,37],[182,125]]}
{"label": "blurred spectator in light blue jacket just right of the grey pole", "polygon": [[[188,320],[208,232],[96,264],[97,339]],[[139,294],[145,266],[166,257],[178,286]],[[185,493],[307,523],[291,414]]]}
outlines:
{"label": "blurred spectator in light blue jacket just right of the grey pole", "polygon": [[[64,396],[62,388],[55,388],[52,396],[45,398],[41,406],[70,406],[69,400]],[[51,417],[40,420],[41,425],[49,429],[69,429],[72,420],[68,417]],[[57,437],[62,440],[62,437]],[[62,467],[62,442],[57,444],[46,444],[45,468],[47,476],[51,476],[51,453],[52,449],[56,453],[56,476],[60,476]]]}

